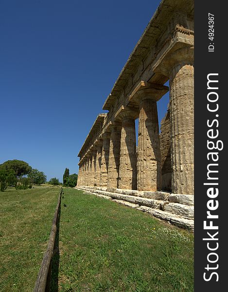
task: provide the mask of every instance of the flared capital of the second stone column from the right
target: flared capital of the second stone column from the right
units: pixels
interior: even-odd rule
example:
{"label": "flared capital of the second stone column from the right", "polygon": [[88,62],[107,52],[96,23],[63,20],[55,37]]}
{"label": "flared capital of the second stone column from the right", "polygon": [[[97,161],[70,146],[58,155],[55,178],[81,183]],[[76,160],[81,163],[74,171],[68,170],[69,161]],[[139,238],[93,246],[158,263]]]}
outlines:
{"label": "flared capital of the second stone column from the right", "polygon": [[158,101],[168,91],[168,86],[140,81],[140,83],[132,91],[128,100],[129,102],[134,102],[137,105],[140,104],[140,100],[142,99],[152,99],[153,101]]}

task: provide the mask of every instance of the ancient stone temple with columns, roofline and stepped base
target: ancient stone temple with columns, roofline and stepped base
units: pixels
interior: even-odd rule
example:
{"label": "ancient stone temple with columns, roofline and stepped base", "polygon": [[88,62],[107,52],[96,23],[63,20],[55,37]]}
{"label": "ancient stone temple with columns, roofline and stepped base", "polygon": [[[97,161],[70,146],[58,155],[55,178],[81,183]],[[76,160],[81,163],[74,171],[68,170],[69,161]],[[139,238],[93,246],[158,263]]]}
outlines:
{"label": "ancient stone temple with columns, roofline and stepped base", "polygon": [[[77,183],[191,229],[193,13],[193,0],[161,1],[79,151]],[[159,133],[157,101],[168,91]]]}

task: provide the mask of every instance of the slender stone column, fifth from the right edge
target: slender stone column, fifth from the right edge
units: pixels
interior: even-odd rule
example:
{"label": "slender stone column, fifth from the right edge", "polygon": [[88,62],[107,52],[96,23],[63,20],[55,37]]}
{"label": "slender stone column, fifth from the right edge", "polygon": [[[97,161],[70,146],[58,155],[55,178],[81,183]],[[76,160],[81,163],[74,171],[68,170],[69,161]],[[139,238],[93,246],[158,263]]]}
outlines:
{"label": "slender stone column, fifth from the right edge", "polygon": [[105,132],[102,135],[102,139],[103,139],[103,147],[102,147],[102,159],[101,159],[100,186],[107,187],[110,133]]}

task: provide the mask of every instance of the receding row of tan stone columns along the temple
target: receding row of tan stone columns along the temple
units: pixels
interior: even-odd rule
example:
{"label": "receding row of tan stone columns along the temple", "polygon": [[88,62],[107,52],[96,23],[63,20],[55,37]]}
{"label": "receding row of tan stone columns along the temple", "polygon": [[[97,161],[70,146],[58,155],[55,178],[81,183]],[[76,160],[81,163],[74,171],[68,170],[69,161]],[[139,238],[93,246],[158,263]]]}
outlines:
{"label": "receding row of tan stone columns along the temple", "polygon": [[[170,79],[172,192],[179,194],[193,194],[193,58],[186,59],[186,55],[193,55],[191,50],[177,50],[161,66],[162,69],[166,66]],[[159,66],[156,70],[159,71]],[[162,85],[140,83],[129,97],[129,104],[138,105],[138,110],[122,106],[117,111],[115,121],[94,143],[87,160],[80,162],[79,185],[161,190],[157,101],[167,91]]]}

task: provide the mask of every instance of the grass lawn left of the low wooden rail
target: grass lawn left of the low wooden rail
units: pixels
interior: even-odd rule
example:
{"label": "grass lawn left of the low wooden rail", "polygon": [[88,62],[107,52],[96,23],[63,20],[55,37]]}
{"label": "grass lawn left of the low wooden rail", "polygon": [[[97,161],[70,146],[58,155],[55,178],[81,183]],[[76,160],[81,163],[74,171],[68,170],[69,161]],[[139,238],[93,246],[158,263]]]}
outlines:
{"label": "grass lawn left of the low wooden rail", "polygon": [[0,292],[31,292],[60,187],[0,192]]}

